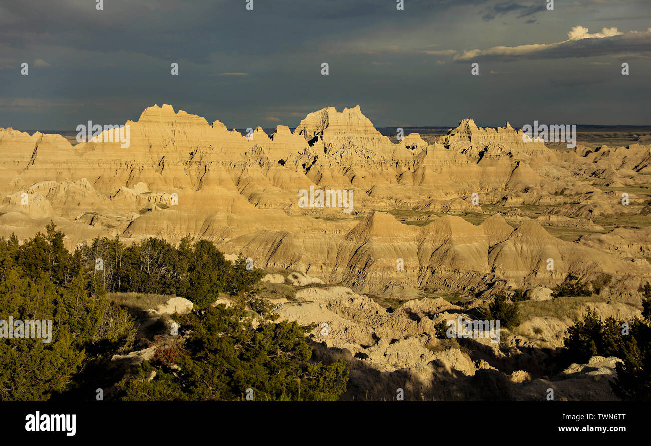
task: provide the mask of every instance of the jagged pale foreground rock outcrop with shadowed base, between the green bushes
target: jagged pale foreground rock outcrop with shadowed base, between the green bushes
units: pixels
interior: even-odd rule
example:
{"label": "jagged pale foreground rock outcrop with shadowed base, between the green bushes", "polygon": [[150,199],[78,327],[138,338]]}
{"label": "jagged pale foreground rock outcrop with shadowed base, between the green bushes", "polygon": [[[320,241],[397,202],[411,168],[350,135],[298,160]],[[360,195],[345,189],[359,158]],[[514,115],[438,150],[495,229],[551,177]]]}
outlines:
{"label": "jagged pale foreground rock outcrop with shadowed base, between the green bushes", "polygon": [[[501,344],[441,339],[436,324],[470,319],[443,299],[409,300],[389,312],[342,286],[303,288],[294,300],[278,303],[274,313],[281,320],[316,326],[309,337],[317,359],[346,360],[350,380],[344,400],[393,400],[396,389],[403,389],[405,400],[542,401],[550,388],[559,400],[616,400],[609,380],[620,359],[595,356],[587,364],[553,370],[548,351],[527,348],[506,329],[501,329]],[[552,344],[562,344],[557,334],[567,324],[533,324]]]}

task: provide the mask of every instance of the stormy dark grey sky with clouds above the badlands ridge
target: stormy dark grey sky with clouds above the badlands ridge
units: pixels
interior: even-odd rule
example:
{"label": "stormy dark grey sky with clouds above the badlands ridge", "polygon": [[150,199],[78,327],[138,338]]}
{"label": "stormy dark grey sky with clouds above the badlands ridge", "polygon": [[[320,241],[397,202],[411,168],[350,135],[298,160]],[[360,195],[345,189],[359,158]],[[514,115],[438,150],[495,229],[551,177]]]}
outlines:
{"label": "stormy dark grey sky with clouds above the badlands ridge", "polygon": [[651,0],[98,1],[0,0],[0,127],[651,124]]}

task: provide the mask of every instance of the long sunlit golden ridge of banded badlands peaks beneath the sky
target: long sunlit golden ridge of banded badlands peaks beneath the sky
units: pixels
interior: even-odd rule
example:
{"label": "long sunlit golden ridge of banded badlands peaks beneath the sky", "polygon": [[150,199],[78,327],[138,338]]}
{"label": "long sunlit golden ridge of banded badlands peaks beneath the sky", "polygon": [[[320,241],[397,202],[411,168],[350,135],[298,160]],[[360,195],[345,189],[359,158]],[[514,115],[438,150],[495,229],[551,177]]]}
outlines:
{"label": "long sunlit golden ridge of banded badlands peaks beneath the sky", "polygon": [[[635,300],[651,278],[650,146],[564,152],[471,119],[433,144],[415,133],[394,144],[359,107],[249,138],[171,105],[126,124],[126,148],[0,129],[0,235],[23,239],[49,220],[70,249],[190,234],[258,268],[400,298],[608,273],[617,296]],[[352,190],[352,212],[301,206],[311,188]],[[628,204],[617,188],[629,188]],[[628,225],[612,229],[617,218]],[[568,240],[559,228],[578,232]]]}

